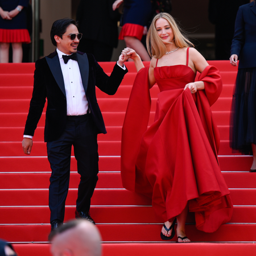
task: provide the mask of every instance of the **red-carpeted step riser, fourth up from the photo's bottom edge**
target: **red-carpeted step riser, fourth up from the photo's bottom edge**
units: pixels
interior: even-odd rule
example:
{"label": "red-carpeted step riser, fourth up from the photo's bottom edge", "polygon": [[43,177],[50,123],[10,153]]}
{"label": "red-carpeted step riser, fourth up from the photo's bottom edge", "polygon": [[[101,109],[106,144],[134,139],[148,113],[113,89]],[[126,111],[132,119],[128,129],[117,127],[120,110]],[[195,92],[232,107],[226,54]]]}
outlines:
{"label": "red-carpeted step riser, fourth up from the photo's bottom edge", "polygon": [[[234,205],[256,205],[256,189],[230,189]],[[69,189],[66,205],[75,205],[77,189]],[[0,189],[2,206],[46,206],[48,189]],[[92,205],[151,205],[147,197],[126,189],[96,189]]]}

